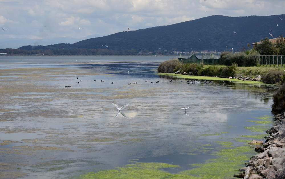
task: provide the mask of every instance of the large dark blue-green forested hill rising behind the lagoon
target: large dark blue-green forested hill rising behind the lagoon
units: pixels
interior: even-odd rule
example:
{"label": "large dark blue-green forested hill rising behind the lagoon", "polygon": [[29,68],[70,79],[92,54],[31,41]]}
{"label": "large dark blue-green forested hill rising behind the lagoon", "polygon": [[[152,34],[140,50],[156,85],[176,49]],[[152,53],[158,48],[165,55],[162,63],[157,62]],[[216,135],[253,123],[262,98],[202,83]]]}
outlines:
{"label": "large dark blue-green forested hill rising behind the lagoon", "polygon": [[[146,29],[118,32],[116,34],[90,38],[74,44],[55,44],[49,46],[23,46],[19,49],[100,49],[120,51],[125,49],[158,50],[177,49],[180,51],[217,50],[233,48],[259,42],[265,37],[274,38],[285,35],[285,15],[226,17],[213,15],[178,24]],[[278,26],[277,26],[278,24]],[[270,31],[271,30],[271,31]],[[236,32],[236,33],[235,33]],[[269,34],[270,33],[270,34]],[[201,40],[200,40],[201,39]]]}

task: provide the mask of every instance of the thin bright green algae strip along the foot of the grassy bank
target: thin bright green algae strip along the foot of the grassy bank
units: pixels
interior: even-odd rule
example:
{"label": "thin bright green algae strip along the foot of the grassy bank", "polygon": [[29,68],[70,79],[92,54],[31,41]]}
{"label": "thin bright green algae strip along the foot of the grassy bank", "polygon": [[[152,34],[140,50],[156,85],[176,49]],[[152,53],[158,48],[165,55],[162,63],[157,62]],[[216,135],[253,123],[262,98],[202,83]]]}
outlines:
{"label": "thin bright green algae strip along the foot of the grassy bank", "polygon": [[216,81],[231,81],[235,83],[244,83],[244,84],[266,84],[262,81],[241,81],[239,79],[228,79],[220,77],[207,77],[207,76],[195,76],[195,75],[180,75],[174,73],[158,73],[158,75],[172,76],[174,78],[184,78],[184,79],[197,79],[197,80],[216,80]]}

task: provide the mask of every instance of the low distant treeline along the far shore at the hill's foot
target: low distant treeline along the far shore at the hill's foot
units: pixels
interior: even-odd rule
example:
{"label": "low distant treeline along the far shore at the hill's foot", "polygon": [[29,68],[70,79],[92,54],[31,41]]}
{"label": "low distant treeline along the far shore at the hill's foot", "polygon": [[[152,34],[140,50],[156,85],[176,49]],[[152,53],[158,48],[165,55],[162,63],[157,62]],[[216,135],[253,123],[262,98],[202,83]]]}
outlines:
{"label": "low distant treeline along the far shore at the hill's foot", "polygon": [[37,54],[44,54],[44,55],[154,55],[154,54],[171,54],[171,52],[149,52],[148,50],[119,50],[113,51],[109,49],[48,49],[48,50],[25,50],[25,49],[13,49],[13,48],[6,48],[0,49],[0,53],[7,53],[7,55],[37,55]]}

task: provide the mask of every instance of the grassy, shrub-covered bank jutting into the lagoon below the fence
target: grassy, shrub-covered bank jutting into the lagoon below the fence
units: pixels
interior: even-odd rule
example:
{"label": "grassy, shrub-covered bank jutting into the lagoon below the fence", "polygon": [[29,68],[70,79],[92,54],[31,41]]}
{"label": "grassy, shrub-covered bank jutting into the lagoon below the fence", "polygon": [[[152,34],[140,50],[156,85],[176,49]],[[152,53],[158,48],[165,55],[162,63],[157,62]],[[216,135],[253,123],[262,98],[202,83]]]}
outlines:
{"label": "grassy, shrub-covered bank jutting into the lagoon below the fence", "polygon": [[[158,67],[158,72],[160,73],[169,73],[174,75],[175,72],[178,74],[186,73],[189,77],[183,75],[183,78],[189,79],[202,79],[194,76],[205,76],[208,80],[214,80],[209,77],[249,77],[255,78],[258,75],[261,76],[261,80],[264,83],[269,84],[282,84],[285,81],[285,65],[284,67],[271,67],[269,66],[258,66],[258,67],[239,67],[237,64],[233,64],[231,66],[225,65],[203,65],[199,63],[182,63],[178,60],[168,60],[161,63]],[[179,77],[179,75],[175,74],[175,76]],[[216,80],[216,79],[215,79]],[[225,80],[225,79],[223,79]],[[231,79],[232,81],[235,81]]]}

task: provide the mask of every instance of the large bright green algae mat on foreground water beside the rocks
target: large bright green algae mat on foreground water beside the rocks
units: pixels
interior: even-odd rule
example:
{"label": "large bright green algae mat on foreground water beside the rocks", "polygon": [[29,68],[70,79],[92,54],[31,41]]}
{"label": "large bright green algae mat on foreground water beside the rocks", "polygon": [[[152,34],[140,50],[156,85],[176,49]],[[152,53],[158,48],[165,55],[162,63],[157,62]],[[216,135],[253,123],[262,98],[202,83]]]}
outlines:
{"label": "large bright green algae mat on foreground water beside the rocks", "polygon": [[[81,179],[91,178],[188,178],[188,179],[208,179],[208,178],[232,178],[237,173],[237,169],[242,168],[242,163],[254,155],[253,148],[249,145],[233,146],[227,141],[215,141],[222,145],[222,149],[215,152],[217,158],[207,160],[203,164],[191,164],[190,170],[184,170],[177,174],[163,171],[163,168],[177,168],[179,166],[166,163],[141,163],[128,164],[113,170],[103,170],[99,172],[89,172],[81,175]],[[191,155],[191,154],[190,154]],[[193,168],[195,167],[195,168]]]}

